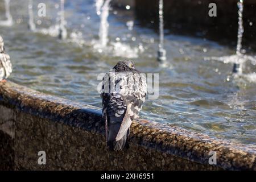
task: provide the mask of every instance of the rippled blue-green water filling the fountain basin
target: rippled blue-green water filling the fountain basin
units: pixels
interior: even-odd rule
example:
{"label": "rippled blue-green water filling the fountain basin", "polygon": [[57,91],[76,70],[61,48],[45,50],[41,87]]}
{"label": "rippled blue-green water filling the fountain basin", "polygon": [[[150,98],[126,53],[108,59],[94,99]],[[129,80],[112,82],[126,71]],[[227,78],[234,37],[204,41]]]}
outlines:
{"label": "rippled blue-green water filling the fountain basin", "polygon": [[[37,27],[55,24],[58,11],[55,3],[59,1],[34,2],[47,5],[46,18],[39,18],[34,12]],[[256,143],[255,73],[234,79],[232,64],[204,60],[204,57],[233,55],[235,48],[206,39],[174,36],[166,31],[164,45],[169,65],[159,67],[158,35],[141,27],[131,10],[110,11],[107,49],[97,47],[100,18],[94,1],[66,1],[65,10],[69,38],[57,40],[27,31],[27,1],[11,1],[16,23],[13,27],[0,27],[14,66],[11,81],[101,107],[98,74],[108,72],[118,60],[130,57],[141,72],[159,73],[160,78],[160,96],[158,100],[146,101],[141,117],[237,143]],[[2,1],[0,18],[4,18]],[[245,73],[253,73],[255,68],[247,63]]]}

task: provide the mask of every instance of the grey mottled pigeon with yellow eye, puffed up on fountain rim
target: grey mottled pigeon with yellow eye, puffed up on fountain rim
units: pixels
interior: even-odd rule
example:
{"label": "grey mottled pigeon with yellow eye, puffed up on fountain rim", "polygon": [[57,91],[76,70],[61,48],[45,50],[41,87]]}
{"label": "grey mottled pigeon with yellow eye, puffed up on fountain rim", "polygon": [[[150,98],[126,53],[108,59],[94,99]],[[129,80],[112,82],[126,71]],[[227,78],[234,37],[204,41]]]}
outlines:
{"label": "grey mottled pigeon with yellow eye, puffed up on fountain rim", "polygon": [[137,71],[134,61],[119,61],[102,78],[102,118],[110,150],[129,148],[127,137],[132,119],[138,117],[147,93],[146,76]]}

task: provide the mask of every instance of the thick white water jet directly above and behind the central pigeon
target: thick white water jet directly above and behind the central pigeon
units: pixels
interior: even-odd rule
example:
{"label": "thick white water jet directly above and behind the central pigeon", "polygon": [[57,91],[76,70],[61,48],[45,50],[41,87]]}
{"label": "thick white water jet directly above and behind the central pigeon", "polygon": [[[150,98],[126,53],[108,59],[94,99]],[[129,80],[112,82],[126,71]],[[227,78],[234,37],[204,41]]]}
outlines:
{"label": "thick white water jet directly above and behind the central pigeon", "polygon": [[101,23],[100,23],[100,31],[98,36],[100,38],[100,44],[102,47],[106,47],[106,44],[108,43],[108,29],[109,29],[108,16],[109,16],[110,1],[111,0],[106,0],[101,7],[101,13],[100,13]]}

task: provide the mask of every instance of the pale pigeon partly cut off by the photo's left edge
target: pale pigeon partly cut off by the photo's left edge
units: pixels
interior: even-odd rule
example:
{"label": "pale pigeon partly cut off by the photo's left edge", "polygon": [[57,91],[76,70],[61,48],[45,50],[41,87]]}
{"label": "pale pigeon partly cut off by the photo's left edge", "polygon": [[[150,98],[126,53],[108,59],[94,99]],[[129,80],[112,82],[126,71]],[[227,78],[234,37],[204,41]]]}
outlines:
{"label": "pale pigeon partly cut off by the photo's left edge", "polygon": [[3,44],[3,38],[0,36],[0,81],[5,82],[13,71],[11,65],[10,56],[5,52],[5,46]]}

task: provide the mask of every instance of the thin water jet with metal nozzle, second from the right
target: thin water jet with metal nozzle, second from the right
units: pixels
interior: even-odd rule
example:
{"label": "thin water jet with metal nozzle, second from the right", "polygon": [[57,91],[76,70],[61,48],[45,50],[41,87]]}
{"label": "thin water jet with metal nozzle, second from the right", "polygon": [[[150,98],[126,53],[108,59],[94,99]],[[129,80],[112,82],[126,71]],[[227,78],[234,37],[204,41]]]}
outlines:
{"label": "thin water jet with metal nozzle, second from the right", "polygon": [[159,44],[158,61],[166,61],[166,50],[164,49],[164,29],[163,29],[163,0],[159,0]]}

